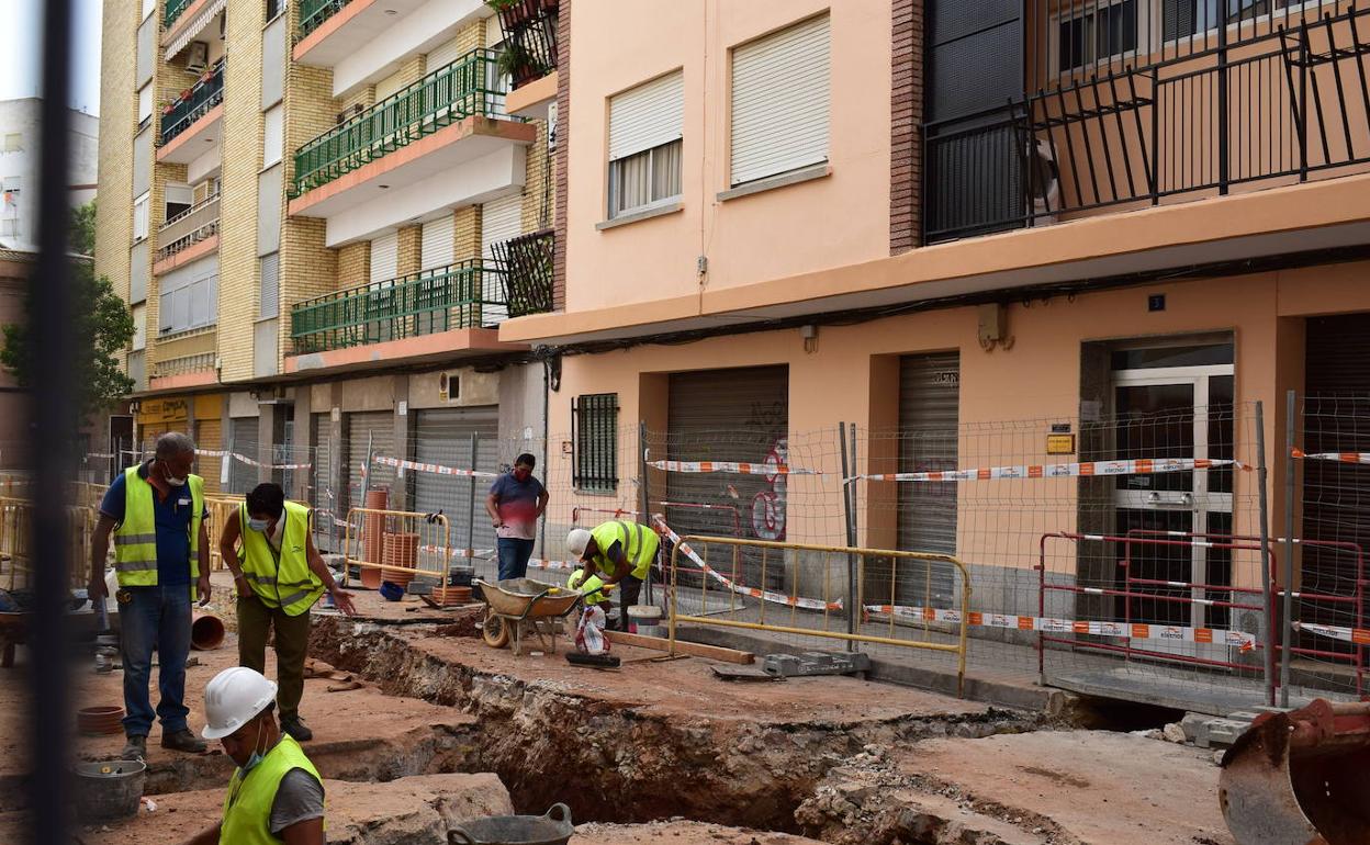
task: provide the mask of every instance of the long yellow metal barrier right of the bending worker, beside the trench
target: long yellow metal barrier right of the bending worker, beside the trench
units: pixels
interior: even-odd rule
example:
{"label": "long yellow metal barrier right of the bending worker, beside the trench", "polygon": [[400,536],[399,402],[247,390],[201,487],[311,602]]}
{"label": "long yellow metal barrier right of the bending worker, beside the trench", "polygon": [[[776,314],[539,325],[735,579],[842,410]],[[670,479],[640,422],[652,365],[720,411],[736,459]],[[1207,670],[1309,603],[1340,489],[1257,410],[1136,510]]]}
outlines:
{"label": "long yellow metal barrier right of the bending worker, beside the trench", "polygon": [[[703,537],[689,534],[677,537],[669,533],[673,544],[670,560],[670,623],[669,638],[671,652],[675,648],[681,623],[719,626],[838,640],[848,644],[889,645],[907,649],[923,649],[956,655],[956,694],[964,692],[966,679],[966,638],[970,619],[971,582],[966,566],[949,555],[903,552],[893,549],[866,549],[859,546],[810,545],[801,542],[773,542],[764,540],[740,540],[736,537]],[[726,546],[732,572],[725,575],[708,564],[710,546]],[[696,546],[703,551],[696,551]],[[682,566],[681,556],[688,564]],[[773,562],[774,556],[778,562]],[[885,566],[888,564],[888,571]],[[901,566],[903,571],[901,571]],[[932,583],[934,564],[951,567],[960,572],[959,594],[952,603],[959,609],[933,608]],[[744,571],[755,570],[758,583],[769,583],[780,567],[781,581],[789,583],[786,592],[752,588],[745,582]],[[688,568],[686,568],[688,567]],[[910,572],[908,570],[914,571]],[[682,585],[697,577],[699,614],[682,614],[682,594],[695,592],[693,585]],[[927,607],[901,605],[899,601],[910,586],[923,585],[921,603]],[[727,593],[717,603],[726,603],[723,609],[710,612],[710,586]],[[821,598],[801,594],[801,585],[817,586]],[[877,594],[867,585],[878,585],[882,604],[867,604],[866,596]],[[891,604],[884,604],[884,601]],[[781,605],[780,620],[775,611],[767,618],[769,604]],[[730,616],[730,618],[722,618]],[[934,627],[941,623],[941,627]],[[875,633],[881,631],[881,633]],[[922,638],[906,634],[922,633]],[[948,641],[949,640],[949,641]]]}

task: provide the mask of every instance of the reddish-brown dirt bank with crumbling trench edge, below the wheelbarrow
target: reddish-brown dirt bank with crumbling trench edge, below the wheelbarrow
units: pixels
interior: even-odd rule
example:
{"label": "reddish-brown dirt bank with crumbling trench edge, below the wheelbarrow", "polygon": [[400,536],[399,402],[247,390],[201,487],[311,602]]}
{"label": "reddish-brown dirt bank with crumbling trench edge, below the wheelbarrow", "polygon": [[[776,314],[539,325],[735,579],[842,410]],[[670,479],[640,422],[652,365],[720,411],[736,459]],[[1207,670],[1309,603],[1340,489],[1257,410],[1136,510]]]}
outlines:
{"label": "reddish-brown dirt bank with crumbling trench edge, below the wheelbarrow", "polygon": [[618,672],[560,655],[514,657],[432,629],[322,620],[311,653],[392,696],[480,720],[474,770],[495,771],[514,805],[562,801],[574,818],[684,816],[797,833],[795,808],[867,745],[1021,731],[1034,716],[852,678],[734,685],[707,660],[652,663],[616,648]]}

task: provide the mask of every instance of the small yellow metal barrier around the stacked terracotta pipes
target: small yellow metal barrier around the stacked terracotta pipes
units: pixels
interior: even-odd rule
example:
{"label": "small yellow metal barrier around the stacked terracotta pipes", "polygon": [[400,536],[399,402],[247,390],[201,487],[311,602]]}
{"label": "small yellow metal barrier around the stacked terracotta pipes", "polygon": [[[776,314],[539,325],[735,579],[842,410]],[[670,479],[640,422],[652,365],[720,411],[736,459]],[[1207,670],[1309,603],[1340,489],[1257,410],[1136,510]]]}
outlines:
{"label": "small yellow metal barrier around the stacked terracotta pipes", "polygon": [[[443,582],[451,564],[452,530],[443,514],[352,508],[347,514],[342,544],[347,566],[362,570],[362,583],[381,581],[407,585],[415,577]],[[370,577],[367,571],[375,572]]]}

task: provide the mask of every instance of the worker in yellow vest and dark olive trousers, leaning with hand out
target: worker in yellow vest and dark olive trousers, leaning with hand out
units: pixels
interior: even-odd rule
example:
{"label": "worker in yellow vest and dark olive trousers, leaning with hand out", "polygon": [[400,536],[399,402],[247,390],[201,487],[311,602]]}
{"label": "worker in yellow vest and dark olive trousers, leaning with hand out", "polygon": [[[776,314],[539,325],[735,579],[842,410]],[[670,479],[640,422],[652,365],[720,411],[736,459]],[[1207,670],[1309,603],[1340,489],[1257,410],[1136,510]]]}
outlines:
{"label": "worker in yellow vest and dark olive trousers, leaning with hand out", "polygon": [[310,608],[327,590],[338,609],[356,614],[352,594],[338,588],[314,548],[310,518],[310,508],[285,500],[281,485],[259,483],[225,520],[219,537],[238,596],[238,664],[266,671],[267,631],[275,630],[281,730],[300,742],[314,738],[300,719]]}

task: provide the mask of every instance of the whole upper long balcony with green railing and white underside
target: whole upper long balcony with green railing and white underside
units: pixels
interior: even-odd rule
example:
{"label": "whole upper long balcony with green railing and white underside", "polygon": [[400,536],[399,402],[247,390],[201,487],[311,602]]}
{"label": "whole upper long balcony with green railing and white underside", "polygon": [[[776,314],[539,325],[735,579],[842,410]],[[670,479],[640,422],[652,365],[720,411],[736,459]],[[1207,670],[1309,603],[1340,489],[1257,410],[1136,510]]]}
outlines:
{"label": "whole upper long balcony with green railing and white underside", "polygon": [[386,97],[295,153],[292,215],[327,219],[326,244],[521,188],[532,125],[503,114],[486,49]]}

